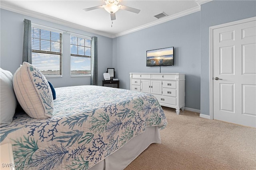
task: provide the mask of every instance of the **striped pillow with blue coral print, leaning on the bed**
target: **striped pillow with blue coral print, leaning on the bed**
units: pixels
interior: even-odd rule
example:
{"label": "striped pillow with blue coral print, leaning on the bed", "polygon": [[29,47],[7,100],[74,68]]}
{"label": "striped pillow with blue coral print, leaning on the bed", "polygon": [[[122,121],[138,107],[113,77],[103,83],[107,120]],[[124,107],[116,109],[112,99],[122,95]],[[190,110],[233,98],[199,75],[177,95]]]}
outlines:
{"label": "striped pillow with blue coral print, leaning on the bed", "polygon": [[38,68],[23,62],[13,75],[13,88],[20,106],[30,117],[52,117],[52,90]]}

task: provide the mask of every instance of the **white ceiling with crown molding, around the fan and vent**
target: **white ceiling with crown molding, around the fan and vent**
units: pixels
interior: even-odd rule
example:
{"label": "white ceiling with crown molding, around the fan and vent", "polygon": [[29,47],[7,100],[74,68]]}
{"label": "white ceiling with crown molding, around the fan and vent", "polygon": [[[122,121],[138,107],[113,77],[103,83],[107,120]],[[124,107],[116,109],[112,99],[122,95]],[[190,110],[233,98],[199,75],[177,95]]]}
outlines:
{"label": "white ceiling with crown molding, around the fan and vent", "polygon": [[[119,4],[140,9],[140,13],[118,10],[113,24],[104,8],[83,10],[104,5],[102,0],[1,0],[0,7],[113,38],[200,11],[200,4],[208,1],[122,0]],[[160,19],[154,17],[162,12],[168,16]]]}

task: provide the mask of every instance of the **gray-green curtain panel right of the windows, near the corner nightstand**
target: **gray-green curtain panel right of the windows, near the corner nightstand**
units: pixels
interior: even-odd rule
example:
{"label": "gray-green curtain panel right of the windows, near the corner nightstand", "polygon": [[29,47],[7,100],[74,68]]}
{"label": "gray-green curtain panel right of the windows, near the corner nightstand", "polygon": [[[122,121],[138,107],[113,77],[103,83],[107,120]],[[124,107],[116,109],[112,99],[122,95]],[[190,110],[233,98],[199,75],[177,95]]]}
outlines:
{"label": "gray-green curtain panel right of the windows, near the corner nightstand", "polygon": [[91,85],[98,86],[98,47],[97,37],[92,37]]}

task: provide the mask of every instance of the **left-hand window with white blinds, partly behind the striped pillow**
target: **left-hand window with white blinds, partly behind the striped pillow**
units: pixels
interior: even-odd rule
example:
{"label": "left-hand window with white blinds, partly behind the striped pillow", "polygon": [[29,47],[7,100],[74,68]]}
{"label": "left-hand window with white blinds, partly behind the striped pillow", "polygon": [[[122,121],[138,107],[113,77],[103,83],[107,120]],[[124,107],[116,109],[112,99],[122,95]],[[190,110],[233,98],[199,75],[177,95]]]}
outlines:
{"label": "left-hand window with white blinds, partly behind the striped pillow", "polygon": [[44,76],[62,75],[62,32],[58,29],[32,24],[32,64]]}

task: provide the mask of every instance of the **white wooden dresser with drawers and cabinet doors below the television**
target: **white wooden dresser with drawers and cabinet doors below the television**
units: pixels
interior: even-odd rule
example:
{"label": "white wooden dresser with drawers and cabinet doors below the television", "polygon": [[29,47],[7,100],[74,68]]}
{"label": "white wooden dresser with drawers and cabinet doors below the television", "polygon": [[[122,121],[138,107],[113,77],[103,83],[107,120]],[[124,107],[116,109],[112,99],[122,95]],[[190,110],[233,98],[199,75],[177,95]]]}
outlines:
{"label": "white wooden dresser with drawers and cabinet doors below the television", "polygon": [[184,73],[130,73],[130,89],[153,94],[161,106],[176,108],[177,114],[184,110]]}

